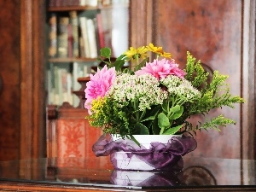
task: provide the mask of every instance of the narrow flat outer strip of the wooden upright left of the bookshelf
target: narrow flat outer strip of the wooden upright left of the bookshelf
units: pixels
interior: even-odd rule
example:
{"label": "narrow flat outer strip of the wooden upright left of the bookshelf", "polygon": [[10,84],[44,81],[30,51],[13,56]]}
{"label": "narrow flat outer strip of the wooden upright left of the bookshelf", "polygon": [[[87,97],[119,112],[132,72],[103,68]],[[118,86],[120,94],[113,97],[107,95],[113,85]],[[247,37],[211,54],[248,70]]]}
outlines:
{"label": "narrow flat outer strip of the wooden upright left of the bookshelf", "polygon": [[26,158],[32,156],[32,1],[20,7],[20,158]]}

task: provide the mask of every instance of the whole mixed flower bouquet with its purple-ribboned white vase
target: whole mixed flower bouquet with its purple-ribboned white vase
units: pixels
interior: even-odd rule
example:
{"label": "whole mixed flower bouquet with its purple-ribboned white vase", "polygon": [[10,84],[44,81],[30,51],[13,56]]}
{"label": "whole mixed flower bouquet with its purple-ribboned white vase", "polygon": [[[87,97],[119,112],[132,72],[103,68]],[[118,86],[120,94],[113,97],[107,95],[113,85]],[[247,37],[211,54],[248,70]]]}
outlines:
{"label": "whole mixed flower bouquet with its purple-ribboned white vase", "polygon": [[[154,55],[152,61],[149,52]],[[219,126],[236,123],[223,114],[197,125],[189,122],[193,115],[206,115],[223,106],[234,108],[235,103],[244,102],[240,96],[231,96],[229,84],[225,83],[227,75],[214,71],[208,82],[209,73],[189,52],[184,69],[170,53],[154,44],[131,47],[115,61],[110,58],[111,49],[101,49],[99,60],[105,66],[90,74],[84,90],[84,108],[90,114],[86,117],[90,125],[105,133],[93,146],[96,156],[111,154],[115,167],[119,168],[119,157],[115,155],[119,151],[127,159],[121,164],[130,164],[131,157],[137,156],[153,169],[173,166],[196,148],[196,131],[220,131]],[[128,62],[129,67],[125,67]],[[137,137],[141,135],[143,140]],[[153,136],[167,140],[149,141]]]}

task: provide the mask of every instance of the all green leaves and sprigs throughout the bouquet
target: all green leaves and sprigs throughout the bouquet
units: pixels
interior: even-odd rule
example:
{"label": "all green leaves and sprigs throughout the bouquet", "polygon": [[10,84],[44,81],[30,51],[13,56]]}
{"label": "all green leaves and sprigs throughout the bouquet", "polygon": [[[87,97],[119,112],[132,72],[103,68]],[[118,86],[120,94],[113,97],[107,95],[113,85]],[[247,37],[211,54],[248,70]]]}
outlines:
{"label": "all green leaves and sprigs throughout the bouquet", "polygon": [[[111,61],[111,49],[101,49],[99,61],[103,61],[108,67],[115,67],[121,71],[125,64],[125,55],[120,55],[116,61]],[[145,66],[148,58],[138,63],[133,71],[126,68],[125,73],[134,74],[134,71]],[[101,127],[104,132],[111,134],[120,134],[121,137],[134,138],[132,135],[168,135],[182,134],[189,132],[196,134],[196,131],[215,129],[220,131],[220,126],[236,124],[232,119],[219,115],[217,118],[207,119],[206,122],[198,122],[198,125],[189,123],[189,118],[195,114],[206,115],[213,108],[227,106],[234,108],[235,103],[245,102],[240,96],[230,94],[229,84],[225,83],[227,75],[219,74],[214,71],[210,82],[207,81],[209,73],[201,66],[201,61],[196,61],[195,57],[187,52],[187,65],[184,69],[186,75],[184,79],[200,90],[201,96],[195,101],[186,101],[183,98],[177,98],[169,95],[162,105],[152,106],[143,111],[137,108],[137,101],[127,103],[119,107],[119,103],[106,98],[104,105],[94,108],[90,117],[90,125]],[[208,83],[207,83],[208,82]]]}

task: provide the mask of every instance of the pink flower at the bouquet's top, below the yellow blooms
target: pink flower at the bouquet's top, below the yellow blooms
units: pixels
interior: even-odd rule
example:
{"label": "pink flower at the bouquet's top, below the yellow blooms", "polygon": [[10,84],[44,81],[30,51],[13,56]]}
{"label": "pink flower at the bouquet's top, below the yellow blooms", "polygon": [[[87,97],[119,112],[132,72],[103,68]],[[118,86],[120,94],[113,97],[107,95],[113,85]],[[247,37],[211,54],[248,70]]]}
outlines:
{"label": "pink flower at the bouquet's top, below the yellow blooms", "polygon": [[182,69],[178,68],[177,63],[172,60],[154,60],[153,62],[147,62],[145,67],[142,67],[136,72],[137,75],[150,73],[157,79],[166,78],[168,75],[176,75],[183,79],[186,74]]}

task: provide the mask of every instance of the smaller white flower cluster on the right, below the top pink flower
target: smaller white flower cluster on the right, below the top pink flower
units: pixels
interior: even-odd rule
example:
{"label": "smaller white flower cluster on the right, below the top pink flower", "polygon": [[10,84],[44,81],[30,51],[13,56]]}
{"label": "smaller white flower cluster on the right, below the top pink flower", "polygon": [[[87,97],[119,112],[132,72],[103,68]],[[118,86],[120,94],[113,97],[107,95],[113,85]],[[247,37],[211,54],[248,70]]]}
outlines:
{"label": "smaller white flower cluster on the right, below the top pink flower", "polygon": [[166,86],[169,96],[175,96],[183,102],[190,102],[201,96],[201,92],[196,90],[188,80],[180,79],[174,75],[161,79],[160,84]]}

